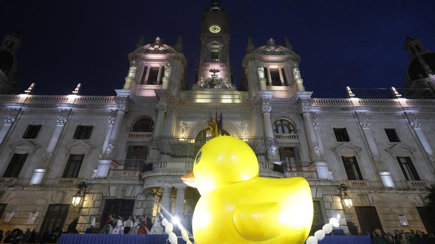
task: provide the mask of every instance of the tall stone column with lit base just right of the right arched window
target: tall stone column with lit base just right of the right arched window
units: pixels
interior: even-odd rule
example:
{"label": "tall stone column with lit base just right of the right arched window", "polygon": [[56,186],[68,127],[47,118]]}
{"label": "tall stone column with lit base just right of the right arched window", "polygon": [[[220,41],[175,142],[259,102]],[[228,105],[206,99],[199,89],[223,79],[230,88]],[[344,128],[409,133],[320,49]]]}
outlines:
{"label": "tall stone column with lit base just right of the right arched window", "polygon": [[310,151],[311,160],[315,162],[317,175],[319,179],[330,179],[329,168],[325,159],[322,157],[319,143],[317,142],[316,133],[311,119],[311,105],[309,99],[302,101],[300,112],[304,118],[304,128],[308,141],[308,148]]}

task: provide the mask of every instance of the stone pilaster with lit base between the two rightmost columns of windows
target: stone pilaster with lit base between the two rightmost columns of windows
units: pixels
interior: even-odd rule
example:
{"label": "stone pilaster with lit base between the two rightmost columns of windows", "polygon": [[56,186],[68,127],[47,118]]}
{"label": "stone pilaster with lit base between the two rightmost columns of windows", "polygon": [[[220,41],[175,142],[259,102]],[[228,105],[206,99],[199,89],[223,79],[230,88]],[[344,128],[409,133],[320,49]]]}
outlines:
{"label": "stone pilaster with lit base between the two rightmost columns of windows", "polygon": [[[358,115],[358,114],[357,114]],[[394,182],[392,181],[391,173],[387,171],[384,166],[384,160],[380,156],[379,148],[376,145],[376,141],[373,138],[372,131],[370,130],[370,121],[365,119],[358,119],[359,125],[362,128],[363,136],[365,137],[367,144],[369,146],[372,159],[374,161],[375,169],[378,171],[382,183],[385,187],[394,187]]]}

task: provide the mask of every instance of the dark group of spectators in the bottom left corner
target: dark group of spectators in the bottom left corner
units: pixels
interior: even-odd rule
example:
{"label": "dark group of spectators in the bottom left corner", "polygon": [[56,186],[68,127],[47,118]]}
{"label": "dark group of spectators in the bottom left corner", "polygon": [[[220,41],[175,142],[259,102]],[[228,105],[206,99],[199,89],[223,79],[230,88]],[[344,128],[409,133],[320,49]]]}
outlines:
{"label": "dark group of spectators in the bottom left corner", "polygon": [[3,230],[0,230],[0,242],[1,243],[56,243],[59,238],[61,231],[56,228],[54,231],[49,232],[45,231],[41,235],[36,232],[36,229],[30,231],[27,229],[24,232],[21,229],[13,229],[12,231],[6,231],[3,233]]}

